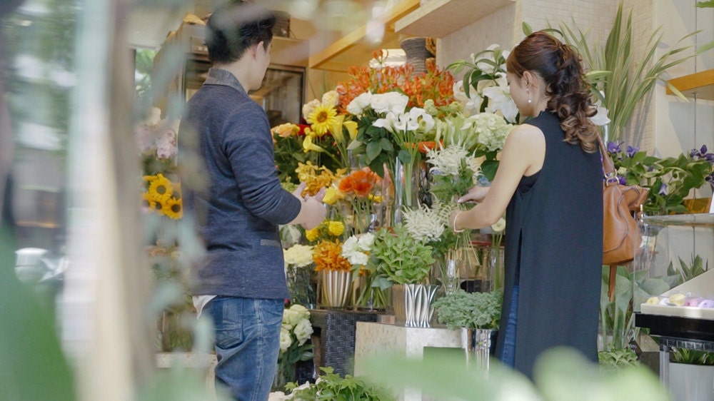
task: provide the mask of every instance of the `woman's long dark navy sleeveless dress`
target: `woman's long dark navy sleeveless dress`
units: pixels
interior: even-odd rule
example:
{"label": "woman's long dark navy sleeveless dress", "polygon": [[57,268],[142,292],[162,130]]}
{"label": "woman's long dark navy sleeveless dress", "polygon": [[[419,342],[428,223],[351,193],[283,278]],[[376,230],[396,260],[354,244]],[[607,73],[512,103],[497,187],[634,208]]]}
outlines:
{"label": "woman's long dark navy sleeveless dress", "polygon": [[[496,355],[503,360],[510,342],[511,364],[532,378],[535,360],[551,347],[574,347],[597,361],[603,179],[599,151],[585,153],[563,141],[554,113],[543,111],[526,123],[543,131],[545,160],[538,173],[521,178],[506,209]],[[509,316],[515,330],[506,330]]]}

